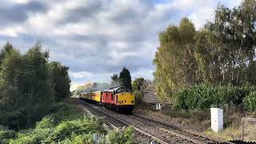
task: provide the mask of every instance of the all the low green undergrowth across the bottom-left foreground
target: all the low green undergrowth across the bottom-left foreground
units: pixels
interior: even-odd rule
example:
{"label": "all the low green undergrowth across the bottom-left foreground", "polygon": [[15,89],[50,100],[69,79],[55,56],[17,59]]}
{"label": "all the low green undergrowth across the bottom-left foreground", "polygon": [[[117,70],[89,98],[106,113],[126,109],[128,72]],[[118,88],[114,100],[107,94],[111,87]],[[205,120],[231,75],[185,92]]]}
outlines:
{"label": "all the low green undergrowth across the bottom-left foreground", "polygon": [[15,132],[0,127],[0,143],[93,143],[93,134],[102,136],[101,143],[133,143],[131,127],[108,134],[100,118],[84,116],[75,106],[58,103],[51,114],[37,122],[34,129]]}

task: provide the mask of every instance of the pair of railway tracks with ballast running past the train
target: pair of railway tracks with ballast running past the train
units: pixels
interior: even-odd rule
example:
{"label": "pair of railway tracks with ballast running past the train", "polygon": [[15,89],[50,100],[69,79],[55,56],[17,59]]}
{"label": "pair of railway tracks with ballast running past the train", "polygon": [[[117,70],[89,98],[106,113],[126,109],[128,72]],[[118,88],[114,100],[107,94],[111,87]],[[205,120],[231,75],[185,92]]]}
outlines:
{"label": "pair of railway tracks with ballast running past the train", "polygon": [[209,138],[190,130],[183,130],[138,114],[118,114],[111,110],[104,110],[99,106],[91,105],[88,102],[81,100],[79,102],[82,102],[87,110],[100,117],[104,117],[109,126],[122,128],[123,126],[132,125],[134,130],[136,130],[136,134],[140,134],[139,137],[142,137],[142,135],[146,136],[147,140],[151,138],[159,143],[232,143],[224,142],[218,138]]}

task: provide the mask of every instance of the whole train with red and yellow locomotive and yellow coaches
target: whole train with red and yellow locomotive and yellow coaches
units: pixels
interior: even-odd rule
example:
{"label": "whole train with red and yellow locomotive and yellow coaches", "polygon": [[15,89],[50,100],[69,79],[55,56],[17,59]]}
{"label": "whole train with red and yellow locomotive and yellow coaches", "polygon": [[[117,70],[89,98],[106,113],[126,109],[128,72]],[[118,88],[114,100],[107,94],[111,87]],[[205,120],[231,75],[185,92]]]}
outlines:
{"label": "whole train with red and yellow locomotive and yellow coaches", "polygon": [[132,113],[135,105],[134,94],[122,86],[109,90],[82,93],[79,98],[110,110],[129,114]]}

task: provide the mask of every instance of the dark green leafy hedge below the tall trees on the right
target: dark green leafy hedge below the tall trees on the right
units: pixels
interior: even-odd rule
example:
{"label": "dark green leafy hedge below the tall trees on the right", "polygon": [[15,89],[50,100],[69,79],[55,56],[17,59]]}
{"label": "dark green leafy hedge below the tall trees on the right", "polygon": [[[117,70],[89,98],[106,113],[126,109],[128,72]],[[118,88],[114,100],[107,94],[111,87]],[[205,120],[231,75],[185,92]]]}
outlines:
{"label": "dark green leafy hedge below the tall trees on the right", "polygon": [[[254,89],[237,86],[192,86],[176,94],[174,107],[182,110],[206,110],[231,103],[239,106],[252,90]],[[256,106],[255,102],[254,106]]]}

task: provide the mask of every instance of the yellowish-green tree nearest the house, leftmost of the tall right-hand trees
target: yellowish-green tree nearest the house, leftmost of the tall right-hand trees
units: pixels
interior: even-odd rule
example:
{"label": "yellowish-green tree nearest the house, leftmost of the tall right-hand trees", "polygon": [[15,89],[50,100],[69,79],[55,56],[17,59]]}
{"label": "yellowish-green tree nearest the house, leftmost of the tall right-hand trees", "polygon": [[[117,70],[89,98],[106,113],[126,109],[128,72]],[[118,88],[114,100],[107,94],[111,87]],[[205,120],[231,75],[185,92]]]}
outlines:
{"label": "yellowish-green tree nearest the house, leftmost of the tall right-hand trees", "polygon": [[179,26],[168,26],[159,34],[154,83],[162,97],[170,98],[174,92],[198,83],[193,55],[195,34],[194,25],[188,18],[183,18]]}

